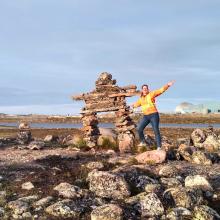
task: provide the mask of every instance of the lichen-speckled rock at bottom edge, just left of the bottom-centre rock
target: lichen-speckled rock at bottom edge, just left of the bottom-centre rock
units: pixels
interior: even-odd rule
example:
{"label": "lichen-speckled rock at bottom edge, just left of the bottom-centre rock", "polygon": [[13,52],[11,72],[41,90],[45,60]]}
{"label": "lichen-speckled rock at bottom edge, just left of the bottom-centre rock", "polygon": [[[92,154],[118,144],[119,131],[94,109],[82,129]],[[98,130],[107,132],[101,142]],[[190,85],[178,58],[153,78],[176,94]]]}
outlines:
{"label": "lichen-speckled rock at bottom edge, just left of the bottom-centre rock", "polygon": [[48,206],[45,211],[55,217],[79,219],[83,209],[74,201],[65,199]]}

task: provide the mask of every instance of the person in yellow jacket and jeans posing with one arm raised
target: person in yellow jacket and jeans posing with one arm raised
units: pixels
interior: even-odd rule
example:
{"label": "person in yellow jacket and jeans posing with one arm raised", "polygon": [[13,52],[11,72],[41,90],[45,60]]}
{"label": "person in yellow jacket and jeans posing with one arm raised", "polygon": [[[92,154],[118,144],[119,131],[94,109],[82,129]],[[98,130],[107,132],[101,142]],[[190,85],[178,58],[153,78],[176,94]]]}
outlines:
{"label": "person in yellow jacket and jeans posing with one arm raised", "polygon": [[140,121],[137,128],[140,138],[140,144],[138,146],[146,146],[144,129],[149,123],[151,123],[156,138],[157,149],[161,149],[161,135],[159,129],[160,117],[156,108],[155,98],[164,93],[173,84],[174,81],[170,81],[165,86],[155,91],[149,91],[148,85],[142,85],[140,98],[136,103],[131,105],[133,108],[141,106],[142,112],[144,114],[144,117]]}

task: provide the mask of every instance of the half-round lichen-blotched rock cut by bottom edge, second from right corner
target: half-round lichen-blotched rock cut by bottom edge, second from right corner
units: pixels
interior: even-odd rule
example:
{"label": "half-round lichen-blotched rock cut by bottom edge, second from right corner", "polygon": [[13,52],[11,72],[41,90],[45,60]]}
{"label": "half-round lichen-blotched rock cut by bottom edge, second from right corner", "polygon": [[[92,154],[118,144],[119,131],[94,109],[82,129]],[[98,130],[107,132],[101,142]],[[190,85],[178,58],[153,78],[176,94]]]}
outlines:
{"label": "half-round lichen-blotched rock cut by bottom edge, second from right corner", "polygon": [[183,207],[176,207],[169,211],[166,218],[169,220],[191,219],[192,212]]}

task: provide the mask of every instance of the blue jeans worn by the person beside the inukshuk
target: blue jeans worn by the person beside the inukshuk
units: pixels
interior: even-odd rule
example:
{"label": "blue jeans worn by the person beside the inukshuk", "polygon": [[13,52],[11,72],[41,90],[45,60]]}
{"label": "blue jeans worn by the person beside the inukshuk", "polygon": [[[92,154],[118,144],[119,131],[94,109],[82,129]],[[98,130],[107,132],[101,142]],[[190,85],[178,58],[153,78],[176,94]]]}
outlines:
{"label": "blue jeans worn by the person beside the inukshuk", "polygon": [[144,115],[144,117],[141,119],[137,127],[139,138],[141,142],[146,143],[146,140],[144,137],[144,129],[149,123],[151,123],[151,126],[154,130],[157,147],[159,148],[161,147],[161,135],[160,135],[160,129],[159,129],[160,117],[159,117],[158,112],[155,112],[149,115]]}

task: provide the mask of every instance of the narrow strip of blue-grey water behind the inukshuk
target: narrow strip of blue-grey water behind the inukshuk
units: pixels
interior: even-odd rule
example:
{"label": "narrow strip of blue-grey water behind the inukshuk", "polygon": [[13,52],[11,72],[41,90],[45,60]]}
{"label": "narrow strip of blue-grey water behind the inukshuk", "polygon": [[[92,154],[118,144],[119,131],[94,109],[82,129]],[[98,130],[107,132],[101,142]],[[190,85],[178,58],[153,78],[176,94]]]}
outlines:
{"label": "narrow strip of blue-grey water behind the inukshuk", "polygon": [[[171,123],[161,123],[160,127],[165,128],[206,128],[212,125],[214,128],[220,128],[220,124],[171,124]],[[81,123],[31,123],[31,128],[82,128]],[[18,127],[18,123],[5,122],[0,123],[0,127]],[[100,123],[101,128],[114,128],[113,123]],[[150,125],[148,125],[150,127]]]}

